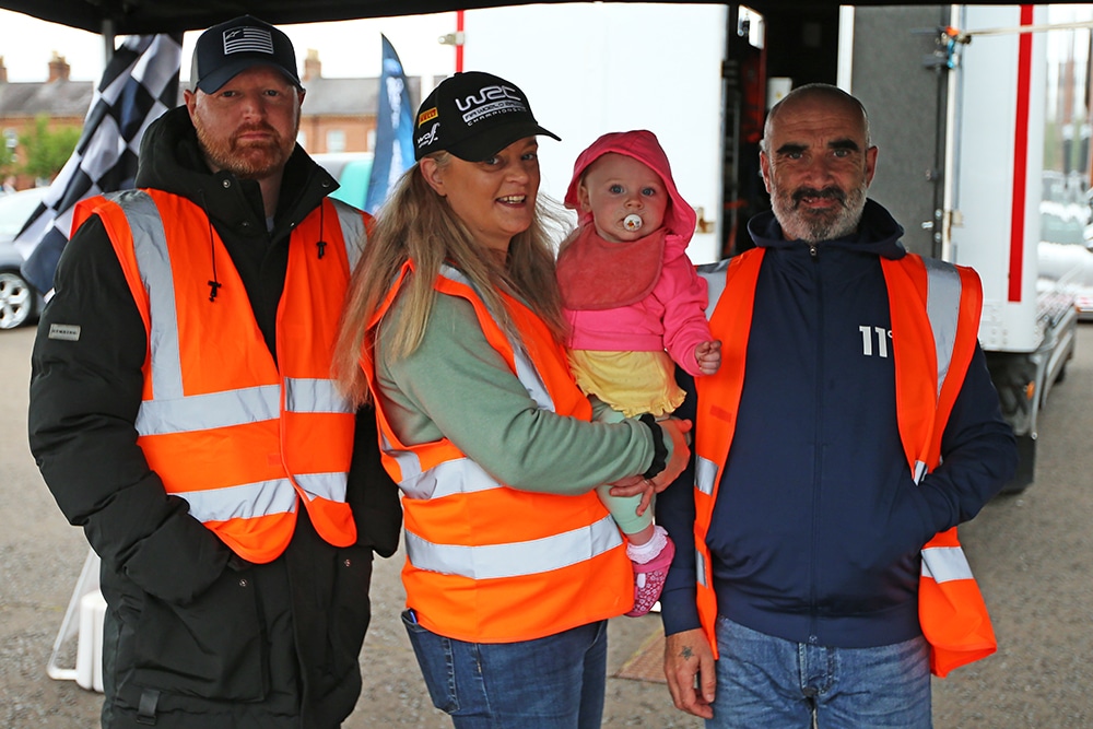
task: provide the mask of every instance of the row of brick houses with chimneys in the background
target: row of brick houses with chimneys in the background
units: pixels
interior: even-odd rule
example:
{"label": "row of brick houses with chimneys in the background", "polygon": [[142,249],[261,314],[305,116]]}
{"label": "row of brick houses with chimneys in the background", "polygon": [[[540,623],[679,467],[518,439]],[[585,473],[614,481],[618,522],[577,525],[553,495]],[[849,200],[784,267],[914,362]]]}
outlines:
{"label": "row of brick houses with chimneys in the background", "polygon": [[[184,67],[188,64],[184,62]],[[8,81],[8,69],[0,56],[0,134],[2,143],[19,154],[19,136],[34,128],[39,116],[47,127],[80,128],[95,92],[95,82],[72,81],[64,57],[54,51],[44,82]],[[307,96],[299,122],[301,144],[312,154],[332,152],[372,152],[376,136],[376,108],[379,78],[327,79],[315,49],[308,49],[301,75]],[[421,80],[407,79],[411,99],[421,99]],[[185,85],[185,84],[184,84]],[[183,103],[179,91],[178,103]],[[16,187],[34,185],[31,176],[19,177]]]}

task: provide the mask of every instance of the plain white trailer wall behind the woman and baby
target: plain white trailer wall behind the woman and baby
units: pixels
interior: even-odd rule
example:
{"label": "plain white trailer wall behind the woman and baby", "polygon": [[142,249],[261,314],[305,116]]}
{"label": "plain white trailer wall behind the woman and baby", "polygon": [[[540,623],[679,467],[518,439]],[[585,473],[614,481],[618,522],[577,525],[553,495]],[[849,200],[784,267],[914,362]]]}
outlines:
{"label": "plain white trailer wall behind the woman and baby", "polygon": [[524,90],[539,122],[542,190],[565,196],[573,163],[609,131],[649,129],[675,184],[713,225],[692,261],[717,260],[721,228],[721,62],[728,9],[717,4],[572,3],[468,10],[463,70]]}

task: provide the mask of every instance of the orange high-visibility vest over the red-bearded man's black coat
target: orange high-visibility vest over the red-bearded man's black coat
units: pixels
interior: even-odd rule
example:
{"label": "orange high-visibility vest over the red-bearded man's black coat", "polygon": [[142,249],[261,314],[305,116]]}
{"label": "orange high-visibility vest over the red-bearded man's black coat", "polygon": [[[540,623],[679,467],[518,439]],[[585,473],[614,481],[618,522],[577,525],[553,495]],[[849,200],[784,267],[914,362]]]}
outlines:
{"label": "orange high-visibility vest over the red-bearded man's black coat", "polygon": [[[137,444],[167,493],[255,563],[287,546],[301,498],[324,540],[356,541],[345,502],[355,411],[331,378],[330,358],[365,217],[322,204],[325,214],[313,211],[289,243],[277,362],[200,207],[129,190],[85,200],[74,215],[74,226],[102,219],[144,321]],[[321,257],[319,240],[329,244]],[[213,256],[221,285],[210,301]]]}

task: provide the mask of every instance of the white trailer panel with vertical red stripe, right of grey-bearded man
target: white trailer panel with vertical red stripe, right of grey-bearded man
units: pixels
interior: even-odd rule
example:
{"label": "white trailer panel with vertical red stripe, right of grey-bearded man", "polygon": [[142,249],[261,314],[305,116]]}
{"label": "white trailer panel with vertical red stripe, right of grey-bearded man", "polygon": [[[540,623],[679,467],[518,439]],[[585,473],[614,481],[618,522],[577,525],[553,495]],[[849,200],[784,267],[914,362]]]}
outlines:
{"label": "white trailer panel with vertical red stripe, right of grey-bearded man", "polygon": [[[1046,21],[1047,9],[1036,8],[1032,22]],[[955,71],[955,137],[948,176],[954,187],[948,248],[953,262],[971,266],[983,280],[979,341],[989,351],[1030,352],[1043,337],[1037,326],[1036,278],[1046,34],[1026,36],[1032,40],[1032,52],[1024,75],[1020,68],[1021,34],[974,35],[978,30],[1020,25],[1018,5],[963,5],[959,13],[959,27],[973,33],[973,38],[963,48]],[[1026,119],[1018,118],[1021,84],[1026,84]],[[1025,151],[1025,171],[1023,178],[1015,180],[1018,149]],[[1014,215],[1015,205],[1022,204],[1023,215]],[[1014,231],[1014,221],[1022,217],[1023,225]]]}

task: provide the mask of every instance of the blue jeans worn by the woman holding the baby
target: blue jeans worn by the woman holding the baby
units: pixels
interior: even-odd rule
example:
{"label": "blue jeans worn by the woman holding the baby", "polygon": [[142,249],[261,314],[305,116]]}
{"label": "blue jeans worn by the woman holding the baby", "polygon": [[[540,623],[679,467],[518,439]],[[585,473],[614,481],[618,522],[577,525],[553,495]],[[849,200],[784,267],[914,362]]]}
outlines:
{"label": "blue jeans worn by the woman holding the baby", "polygon": [[608,624],[520,643],[465,643],[402,624],[436,708],[456,729],[598,729],[607,685]]}

